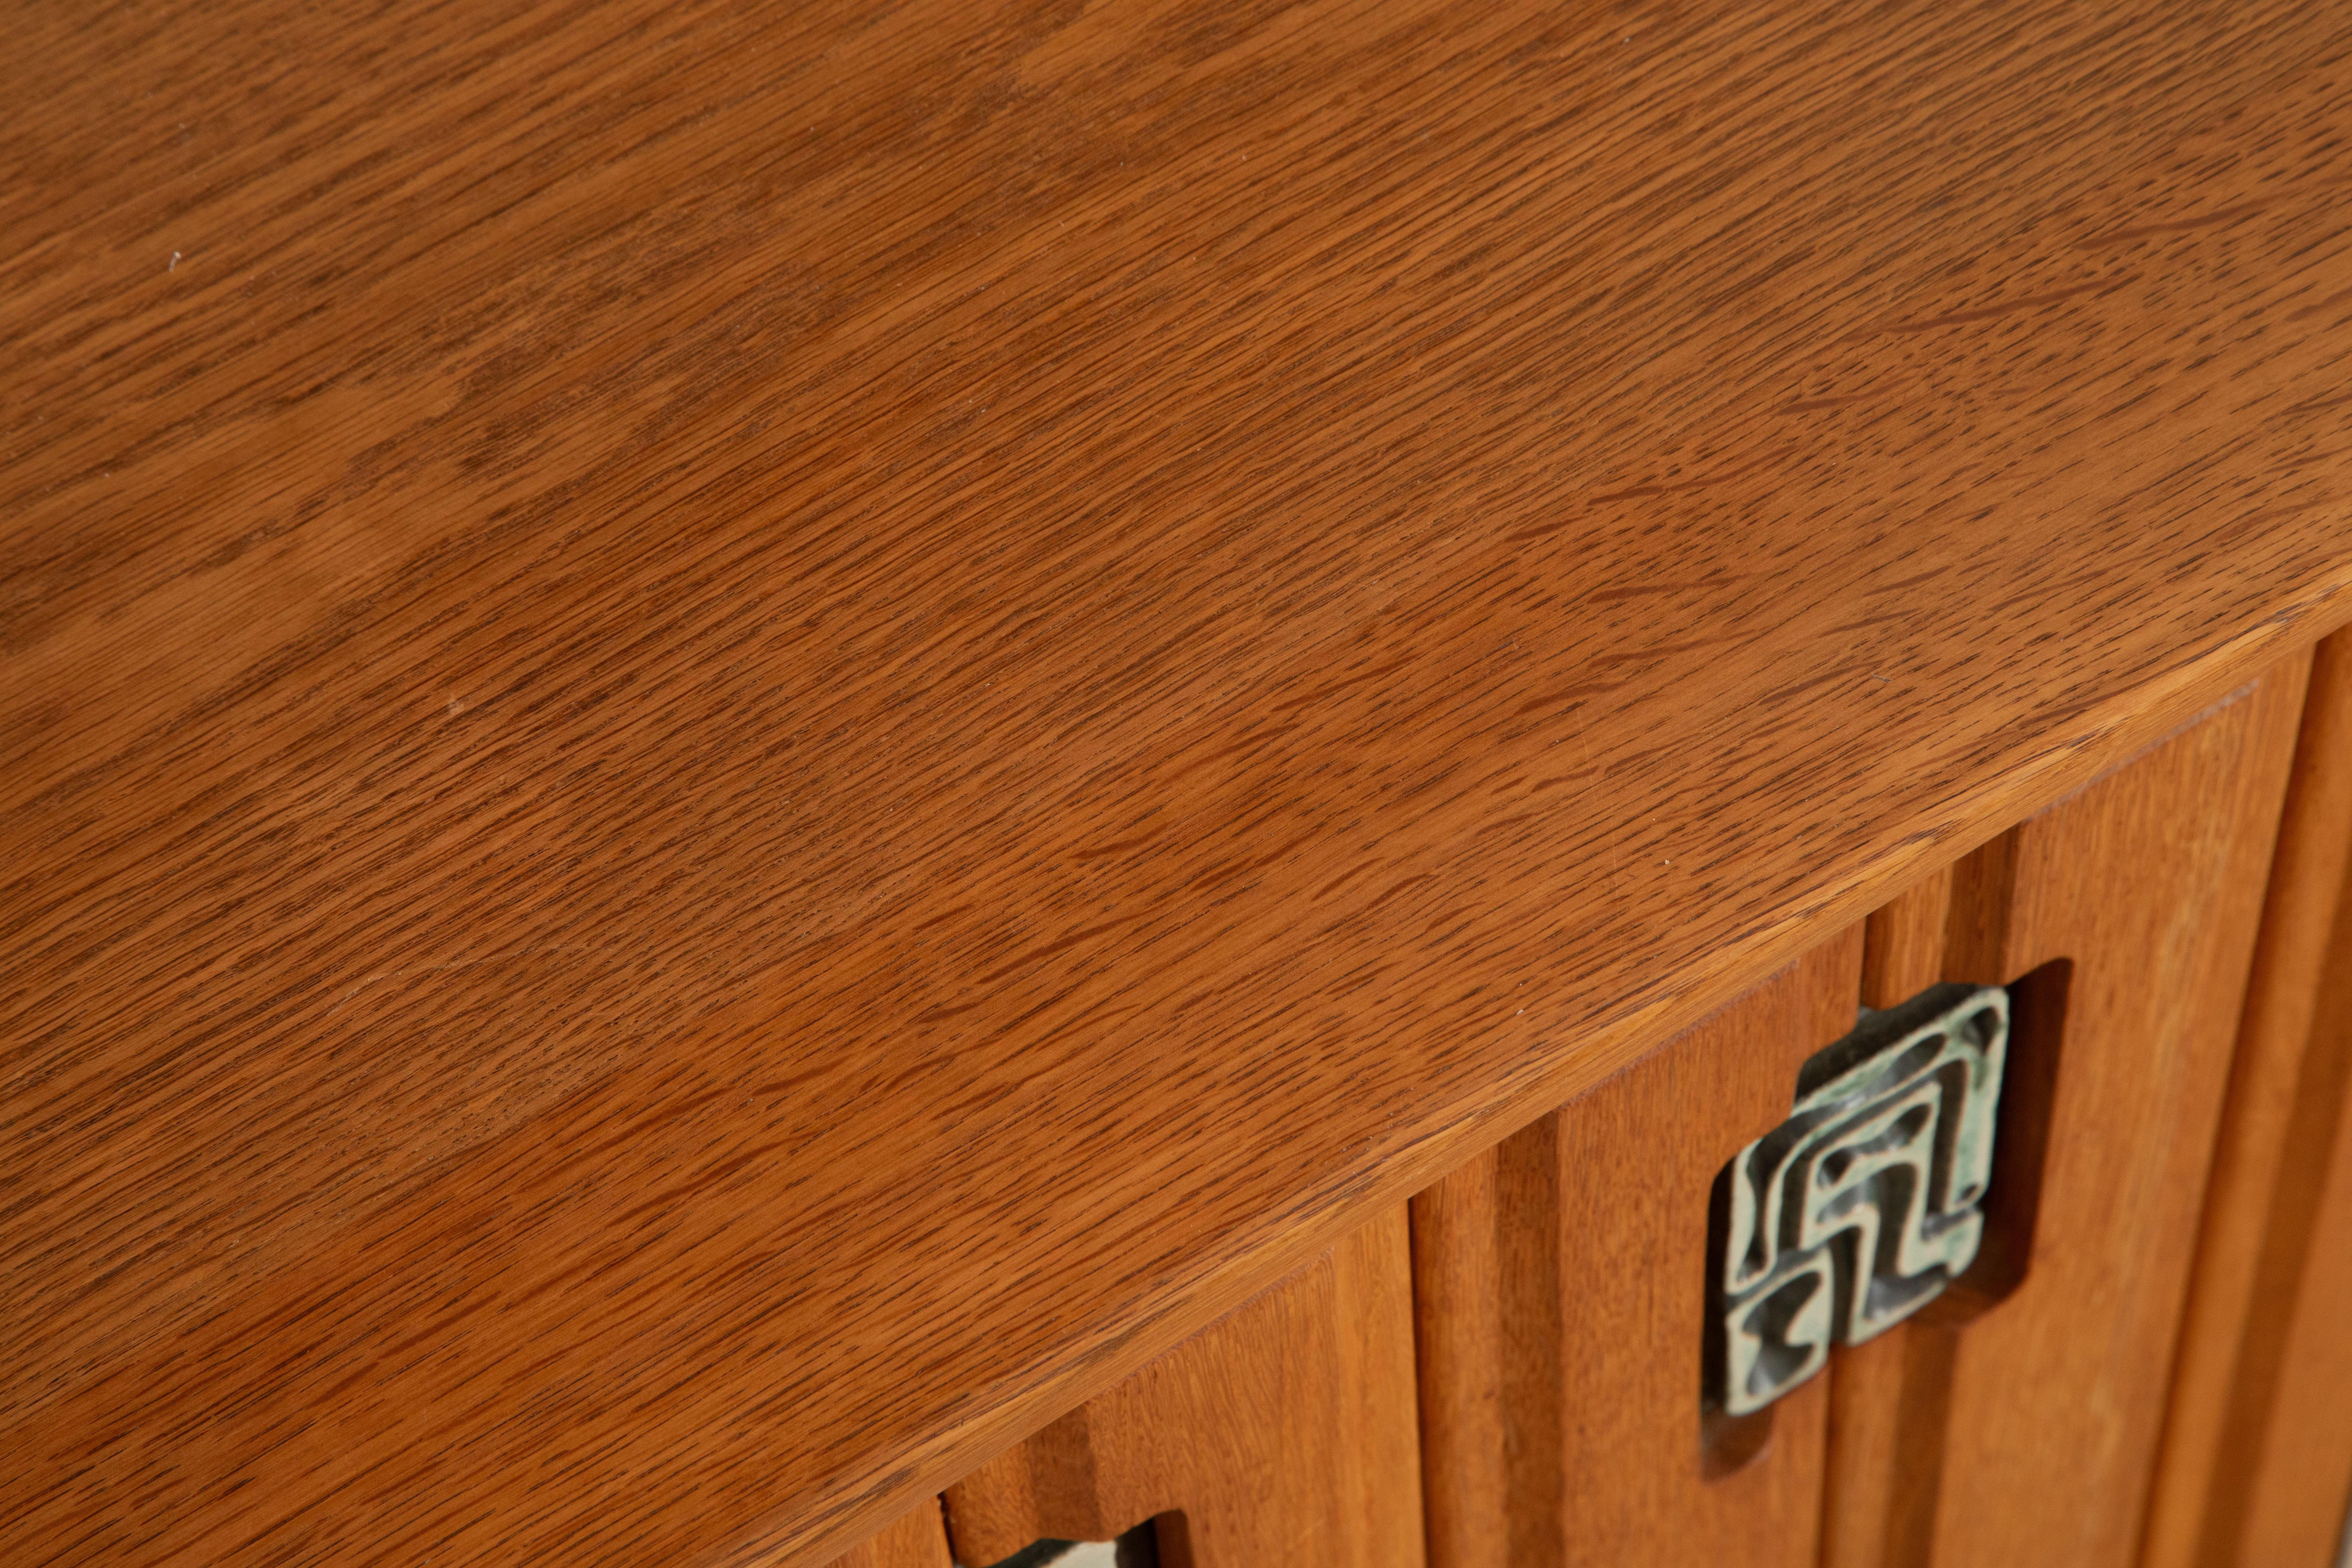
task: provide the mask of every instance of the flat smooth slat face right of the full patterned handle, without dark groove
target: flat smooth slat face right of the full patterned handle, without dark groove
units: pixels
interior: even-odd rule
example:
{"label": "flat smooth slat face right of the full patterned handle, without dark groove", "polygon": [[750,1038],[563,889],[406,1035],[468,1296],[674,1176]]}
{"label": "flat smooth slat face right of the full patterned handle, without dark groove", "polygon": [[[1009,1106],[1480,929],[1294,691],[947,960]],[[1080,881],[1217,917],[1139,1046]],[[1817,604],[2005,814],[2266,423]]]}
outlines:
{"label": "flat smooth slat face right of the full patterned handle, without dark groove", "polygon": [[2270,670],[2013,835],[1999,971],[2072,976],[2063,1023],[2034,997],[2018,1009],[1999,1135],[2042,1095],[2049,1131],[2032,1218],[2004,1208],[2016,1166],[1997,1154],[1962,1281],[2030,1246],[2013,1293],[1952,1335],[1936,1568],[2138,1554],[2305,672]]}

